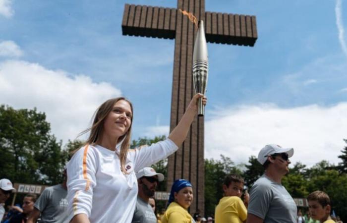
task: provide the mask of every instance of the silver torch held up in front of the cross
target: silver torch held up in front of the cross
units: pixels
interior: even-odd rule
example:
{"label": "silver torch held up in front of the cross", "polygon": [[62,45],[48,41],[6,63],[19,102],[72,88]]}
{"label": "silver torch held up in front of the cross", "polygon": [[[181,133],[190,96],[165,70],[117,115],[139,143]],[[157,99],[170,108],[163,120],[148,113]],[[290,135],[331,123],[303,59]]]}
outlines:
{"label": "silver torch held up in front of the cross", "polygon": [[[193,81],[195,94],[201,93],[205,95],[208,77],[208,56],[207,43],[204,31],[204,21],[199,21],[199,28],[196,33],[193,53]],[[202,98],[198,100],[198,115],[202,116],[205,113]]]}

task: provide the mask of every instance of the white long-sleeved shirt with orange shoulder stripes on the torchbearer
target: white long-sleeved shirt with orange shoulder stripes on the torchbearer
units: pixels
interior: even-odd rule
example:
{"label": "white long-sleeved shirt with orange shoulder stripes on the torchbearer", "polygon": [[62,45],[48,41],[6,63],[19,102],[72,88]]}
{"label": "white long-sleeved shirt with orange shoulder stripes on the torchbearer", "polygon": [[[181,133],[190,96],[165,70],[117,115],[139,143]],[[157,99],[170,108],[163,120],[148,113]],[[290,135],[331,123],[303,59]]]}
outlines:
{"label": "white long-sleeved shirt with orange shoulder stripes on the torchbearer", "polygon": [[123,174],[115,151],[82,147],[67,164],[68,221],[84,213],[91,223],[131,223],[138,192],[135,173],[165,159],[178,147],[167,139],[129,150]]}

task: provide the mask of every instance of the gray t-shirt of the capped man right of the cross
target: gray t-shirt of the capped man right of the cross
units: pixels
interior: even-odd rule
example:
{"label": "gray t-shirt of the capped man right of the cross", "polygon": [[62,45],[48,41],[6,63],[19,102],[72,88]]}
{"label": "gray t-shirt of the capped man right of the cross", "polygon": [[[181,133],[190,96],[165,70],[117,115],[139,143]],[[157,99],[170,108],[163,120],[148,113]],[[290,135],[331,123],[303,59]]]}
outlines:
{"label": "gray t-shirt of the capped man right of the cross", "polygon": [[255,181],[250,191],[248,213],[264,223],[296,223],[296,205],[286,188],[265,174]]}

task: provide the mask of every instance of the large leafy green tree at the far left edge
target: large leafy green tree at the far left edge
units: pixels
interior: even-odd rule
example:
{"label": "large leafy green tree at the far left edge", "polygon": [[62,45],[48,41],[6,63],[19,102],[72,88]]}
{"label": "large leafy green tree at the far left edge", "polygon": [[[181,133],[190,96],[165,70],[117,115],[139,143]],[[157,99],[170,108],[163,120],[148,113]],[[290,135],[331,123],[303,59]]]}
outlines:
{"label": "large leafy green tree at the far left edge", "polygon": [[0,175],[12,182],[56,184],[65,160],[46,114],[0,106]]}

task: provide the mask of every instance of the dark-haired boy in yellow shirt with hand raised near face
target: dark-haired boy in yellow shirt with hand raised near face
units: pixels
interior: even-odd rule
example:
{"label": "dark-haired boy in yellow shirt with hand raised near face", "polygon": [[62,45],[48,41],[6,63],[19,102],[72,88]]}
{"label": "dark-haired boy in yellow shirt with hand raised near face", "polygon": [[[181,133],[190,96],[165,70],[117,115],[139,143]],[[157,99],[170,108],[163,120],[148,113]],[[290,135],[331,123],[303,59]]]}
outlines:
{"label": "dark-haired boy in yellow shirt with hand raised near face", "polygon": [[227,175],[223,182],[224,197],[219,201],[215,210],[215,223],[245,223],[249,195],[245,194],[242,202],[241,195],[244,180],[237,174]]}

